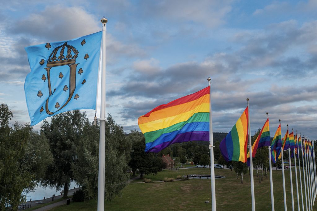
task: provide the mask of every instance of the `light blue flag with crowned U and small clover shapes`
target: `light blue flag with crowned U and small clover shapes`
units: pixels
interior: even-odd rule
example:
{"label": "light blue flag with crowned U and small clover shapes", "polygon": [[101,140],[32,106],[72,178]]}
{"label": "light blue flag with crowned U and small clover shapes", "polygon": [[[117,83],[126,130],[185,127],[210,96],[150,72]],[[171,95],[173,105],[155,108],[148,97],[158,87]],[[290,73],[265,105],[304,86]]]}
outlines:
{"label": "light blue flag with crowned U and small clover shapes", "polygon": [[31,125],[75,109],[95,109],[102,32],[26,47],[24,91]]}

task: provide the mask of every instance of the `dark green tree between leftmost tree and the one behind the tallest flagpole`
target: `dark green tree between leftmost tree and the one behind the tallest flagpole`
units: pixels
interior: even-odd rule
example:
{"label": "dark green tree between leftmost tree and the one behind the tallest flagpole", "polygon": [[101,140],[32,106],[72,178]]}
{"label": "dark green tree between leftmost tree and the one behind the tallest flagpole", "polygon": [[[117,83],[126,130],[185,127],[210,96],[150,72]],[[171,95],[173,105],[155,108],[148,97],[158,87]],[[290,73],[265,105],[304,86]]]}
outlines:
{"label": "dark green tree between leftmost tree and the one behind the tallest flagpole", "polygon": [[57,114],[50,123],[44,120],[41,125],[53,154],[53,161],[47,167],[42,185],[64,188],[63,198],[67,198],[69,184],[74,181],[72,165],[78,162],[75,146],[80,143],[85,124],[88,124],[86,113],[74,110]]}

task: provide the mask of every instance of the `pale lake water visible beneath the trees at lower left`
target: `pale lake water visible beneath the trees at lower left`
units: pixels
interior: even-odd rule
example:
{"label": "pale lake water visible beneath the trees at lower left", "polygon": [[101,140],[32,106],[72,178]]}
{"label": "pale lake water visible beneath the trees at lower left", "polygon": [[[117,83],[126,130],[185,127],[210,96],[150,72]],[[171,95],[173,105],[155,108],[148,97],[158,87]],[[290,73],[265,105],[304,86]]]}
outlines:
{"label": "pale lake water visible beneath the trees at lower left", "polygon": [[[69,189],[73,189],[74,187],[77,188],[77,185],[75,182],[71,182],[70,183],[70,186],[69,186]],[[32,199],[32,201],[34,200],[41,200],[44,198],[49,198],[49,197],[52,197],[52,195],[55,194],[56,195],[61,195],[61,191],[63,190],[60,189],[58,191],[56,191],[56,189],[50,189],[50,188],[43,188],[43,187],[37,187],[34,192],[31,192],[29,193],[27,196],[26,196],[26,201],[30,201],[30,199]]]}

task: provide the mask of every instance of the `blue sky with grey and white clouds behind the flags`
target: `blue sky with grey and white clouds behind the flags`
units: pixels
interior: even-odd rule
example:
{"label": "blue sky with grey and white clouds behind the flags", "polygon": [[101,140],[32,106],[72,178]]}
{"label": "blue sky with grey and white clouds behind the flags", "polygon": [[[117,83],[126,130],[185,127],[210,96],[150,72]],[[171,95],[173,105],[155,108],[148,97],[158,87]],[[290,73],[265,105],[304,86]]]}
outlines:
{"label": "blue sky with grey and white clouds behind the flags", "polygon": [[12,123],[29,122],[24,47],[100,31],[106,16],[106,112],[126,132],[210,76],[214,131],[229,132],[249,97],[252,134],[269,112],[271,136],[280,118],[283,134],[288,124],[317,139],[316,10],[315,0],[1,1],[0,102]]}

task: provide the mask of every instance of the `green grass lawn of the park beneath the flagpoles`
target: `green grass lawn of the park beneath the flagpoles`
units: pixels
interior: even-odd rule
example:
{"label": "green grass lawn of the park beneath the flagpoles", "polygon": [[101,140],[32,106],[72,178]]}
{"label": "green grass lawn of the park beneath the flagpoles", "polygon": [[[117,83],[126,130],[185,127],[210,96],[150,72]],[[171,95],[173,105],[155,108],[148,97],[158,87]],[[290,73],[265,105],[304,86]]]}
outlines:
{"label": "green grass lawn of the park beneath the flagpoles", "polygon": [[[273,170],[273,185],[275,210],[284,210],[282,171]],[[178,171],[164,170],[156,176],[146,175],[145,178],[159,181],[164,177],[174,177],[187,174],[210,174],[210,169],[192,168]],[[216,179],[217,210],[251,210],[251,188],[249,174],[240,177],[230,169],[215,169],[216,175],[226,176]],[[269,174],[268,174],[269,175]],[[254,174],[256,210],[271,209],[269,178],[259,178]],[[298,176],[299,177],[299,176]],[[289,170],[285,171],[286,198],[288,210],[292,209]],[[105,210],[211,210],[210,179],[191,179],[187,181],[154,182],[128,184],[122,190],[122,197],[105,202]],[[294,204],[297,210],[297,195],[295,173],[293,171]],[[301,194],[301,193],[300,193]],[[305,195],[304,195],[305,200]],[[210,201],[210,203],[205,203]],[[301,203],[301,202],[300,202]],[[52,210],[96,210],[97,201],[72,202]]]}

